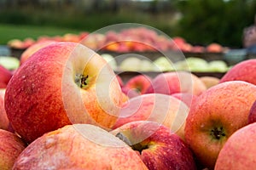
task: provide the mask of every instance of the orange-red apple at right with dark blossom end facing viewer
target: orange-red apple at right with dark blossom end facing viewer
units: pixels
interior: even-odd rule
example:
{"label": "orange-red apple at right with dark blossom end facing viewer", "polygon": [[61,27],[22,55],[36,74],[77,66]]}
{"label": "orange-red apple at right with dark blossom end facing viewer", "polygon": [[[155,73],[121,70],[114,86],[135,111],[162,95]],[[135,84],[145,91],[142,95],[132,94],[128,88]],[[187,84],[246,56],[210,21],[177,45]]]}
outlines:
{"label": "orange-red apple at right with dark blossom end facing viewer", "polygon": [[230,135],[247,125],[256,98],[248,82],[223,82],[198,96],[185,124],[185,140],[202,166],[213,169],[219,150]]}

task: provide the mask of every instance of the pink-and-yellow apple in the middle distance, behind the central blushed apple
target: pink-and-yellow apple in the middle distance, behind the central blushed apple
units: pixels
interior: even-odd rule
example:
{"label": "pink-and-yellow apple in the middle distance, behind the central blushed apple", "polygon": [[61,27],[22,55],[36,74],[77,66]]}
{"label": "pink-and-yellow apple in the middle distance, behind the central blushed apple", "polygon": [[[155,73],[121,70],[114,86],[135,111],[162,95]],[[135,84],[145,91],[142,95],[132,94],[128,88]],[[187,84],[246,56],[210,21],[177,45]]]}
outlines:
{"label": "pink-and-yellow apple in the middle distance, behind the central blushed apple", "polygon": [[186,71],[171,71],[160,73],[154,77],[146,94],[176,94],[189,93],[200,95],[207,87],[199,77]]}

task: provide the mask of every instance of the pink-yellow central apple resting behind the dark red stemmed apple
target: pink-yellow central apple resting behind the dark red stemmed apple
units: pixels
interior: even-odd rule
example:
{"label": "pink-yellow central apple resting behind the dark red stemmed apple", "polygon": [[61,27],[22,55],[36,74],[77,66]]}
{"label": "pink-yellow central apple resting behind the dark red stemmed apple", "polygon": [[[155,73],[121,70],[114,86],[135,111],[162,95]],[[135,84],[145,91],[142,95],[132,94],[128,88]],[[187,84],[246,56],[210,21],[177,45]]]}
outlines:
{"label": "pink-yellow central apple resting behind the dark red stemmed apple", "polygon": [[123,104],[113,129],[128,122],[152,121],[169,127],[183,139],[188,113],[188,106],[171,95],[142,94]]}

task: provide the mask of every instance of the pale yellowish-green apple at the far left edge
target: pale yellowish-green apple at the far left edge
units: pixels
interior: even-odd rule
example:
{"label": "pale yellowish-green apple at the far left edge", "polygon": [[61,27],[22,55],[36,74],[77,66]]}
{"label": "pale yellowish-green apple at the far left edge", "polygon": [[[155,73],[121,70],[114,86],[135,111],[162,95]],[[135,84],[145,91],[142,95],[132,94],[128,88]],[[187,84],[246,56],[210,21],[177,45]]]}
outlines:
{"label": "pale yellowish-green apple at the far left edge", "polygon": [[0,65],[8,70],[15,70],[20,66],[20,60],[11,56],[0,56]]}

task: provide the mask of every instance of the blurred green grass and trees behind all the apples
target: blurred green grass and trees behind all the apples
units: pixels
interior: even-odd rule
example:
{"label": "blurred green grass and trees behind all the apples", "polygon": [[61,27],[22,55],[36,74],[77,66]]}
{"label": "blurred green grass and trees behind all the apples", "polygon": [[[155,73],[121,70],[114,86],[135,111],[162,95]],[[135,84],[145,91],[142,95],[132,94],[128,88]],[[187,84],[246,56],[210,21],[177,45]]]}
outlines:
{"label": "blurred green grass and trees behind all the apples", "polygon": [[255,0],[0,0],[0,44],[132,22],[193,45],[242,48],[255,12]]}

